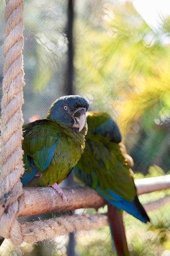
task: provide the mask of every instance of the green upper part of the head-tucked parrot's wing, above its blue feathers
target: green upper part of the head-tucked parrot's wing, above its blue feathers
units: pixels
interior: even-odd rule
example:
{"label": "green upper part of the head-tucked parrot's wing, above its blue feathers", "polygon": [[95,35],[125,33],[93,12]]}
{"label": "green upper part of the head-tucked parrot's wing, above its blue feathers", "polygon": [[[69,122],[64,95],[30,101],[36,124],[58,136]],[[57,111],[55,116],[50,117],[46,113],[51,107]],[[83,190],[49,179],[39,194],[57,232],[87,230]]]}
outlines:
{"label": "green upper part of the head-tucked parrot's wing, above its blue feathers", "polygon": [[[133,172],[126,163],[117,143],[100,134],[86,137],[85,150],[78,161],[83,182],[96,190],[114,191],[118,196],[131,201],[135,194]],[[108,194],[108,197],[112,195]]]}

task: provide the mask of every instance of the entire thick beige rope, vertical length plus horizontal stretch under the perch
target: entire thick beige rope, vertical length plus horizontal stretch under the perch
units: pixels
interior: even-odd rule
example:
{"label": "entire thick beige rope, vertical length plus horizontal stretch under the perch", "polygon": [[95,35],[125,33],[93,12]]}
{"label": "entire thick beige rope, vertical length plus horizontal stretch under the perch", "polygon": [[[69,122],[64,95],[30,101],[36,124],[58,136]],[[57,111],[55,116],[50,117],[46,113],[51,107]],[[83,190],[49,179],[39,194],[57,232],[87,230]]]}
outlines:
{"label": "entire thick beige rope, vertical length plus horizontal stretch under the perch", "polygon": [[74,230],[89,230],[107,225],[107,217],[63,216],[38,222],[19,223],[18,198],[22,195],[20,176],[24,173],[22,162],[22,104],[24,86],[23,11],[24,0],[6,0],[4,29],[4,80],[1,102],[1,152],[0,152],[0,236],[11,238],[15,245],[23,241],[54,238]]}

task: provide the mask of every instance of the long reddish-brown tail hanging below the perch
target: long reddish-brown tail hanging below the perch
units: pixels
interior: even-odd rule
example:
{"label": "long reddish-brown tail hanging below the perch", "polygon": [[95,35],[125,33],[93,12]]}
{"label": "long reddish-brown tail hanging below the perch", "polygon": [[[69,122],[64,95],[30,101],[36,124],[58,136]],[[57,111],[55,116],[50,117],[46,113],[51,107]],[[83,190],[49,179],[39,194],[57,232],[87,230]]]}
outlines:
{"label": "long reddish-brown tail hanging below the perch", "polygon": [[107,205],[113,247],[116,249],[117,256],[129,256],[122,214],[112,204]]}

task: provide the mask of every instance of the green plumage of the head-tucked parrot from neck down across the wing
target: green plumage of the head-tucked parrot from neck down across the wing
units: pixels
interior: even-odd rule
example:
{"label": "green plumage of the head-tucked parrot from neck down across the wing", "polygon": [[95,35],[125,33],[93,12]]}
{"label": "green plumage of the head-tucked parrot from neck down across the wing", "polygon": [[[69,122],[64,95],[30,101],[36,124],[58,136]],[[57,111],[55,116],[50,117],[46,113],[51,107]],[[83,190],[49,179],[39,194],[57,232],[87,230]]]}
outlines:
{"label": "green plumage of the head-tucked parrot from neck down across the wing", "polygon": [[[93,189],[99,186],[105,193],[113,190],[120,197],[131,201],[136,195],[133,173],[121,153],[120,144],[111,140],[112,136],[116,136],[111,120],[107,112],[87,112],[86,146],[77,166],[92,175],[90,181],[83,181]],[[107,195],[110,197],[109,192]]]}

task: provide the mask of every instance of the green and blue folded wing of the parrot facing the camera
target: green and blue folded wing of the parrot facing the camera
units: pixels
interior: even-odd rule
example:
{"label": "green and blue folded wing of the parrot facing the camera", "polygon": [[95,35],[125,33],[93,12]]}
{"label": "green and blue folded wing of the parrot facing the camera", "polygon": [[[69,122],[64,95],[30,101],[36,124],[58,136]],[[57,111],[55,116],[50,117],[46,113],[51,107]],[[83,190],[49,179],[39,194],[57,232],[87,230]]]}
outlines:
{"label": "green and blue folded wing of the parrot facing the camera", "polygon": [[24,186],[38,172],[45,171],[50,164],[60,138],[60,130],[52,121],[42,119],[26,124],[23,131],[22,149],[26,171],[21,182]]}

